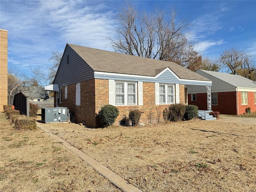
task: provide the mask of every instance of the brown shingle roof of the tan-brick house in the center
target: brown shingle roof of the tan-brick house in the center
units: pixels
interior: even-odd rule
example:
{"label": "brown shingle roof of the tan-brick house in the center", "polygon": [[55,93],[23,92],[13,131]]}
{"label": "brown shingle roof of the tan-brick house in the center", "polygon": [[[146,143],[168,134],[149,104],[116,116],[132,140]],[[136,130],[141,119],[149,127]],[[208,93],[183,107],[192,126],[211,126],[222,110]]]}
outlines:
{"label": "brown shingle roof of the tan-brick house in the center", "polygon": [[174,62],[120,54],[73,44],[68,44],[68,46],[97,72],[156,76],[169,67],[181,79],[210,81]]}

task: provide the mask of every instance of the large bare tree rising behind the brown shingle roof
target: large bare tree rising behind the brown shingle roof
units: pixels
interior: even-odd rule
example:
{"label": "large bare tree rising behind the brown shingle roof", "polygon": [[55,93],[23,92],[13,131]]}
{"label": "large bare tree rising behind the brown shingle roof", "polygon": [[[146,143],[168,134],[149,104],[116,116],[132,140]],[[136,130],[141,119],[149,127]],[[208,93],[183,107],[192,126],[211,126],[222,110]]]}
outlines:
{"label": "large bare tree rising behind the brown shingle roof", "polygon": [[106,38],[116,52],[188,66],[189,54],[194,52],[187,36],[190,22],[187,18],[178,22],[177,17],[175,8],[168,15],[156,7],[154,14],[147,15],[126,4],[116,19],[116,34]]}

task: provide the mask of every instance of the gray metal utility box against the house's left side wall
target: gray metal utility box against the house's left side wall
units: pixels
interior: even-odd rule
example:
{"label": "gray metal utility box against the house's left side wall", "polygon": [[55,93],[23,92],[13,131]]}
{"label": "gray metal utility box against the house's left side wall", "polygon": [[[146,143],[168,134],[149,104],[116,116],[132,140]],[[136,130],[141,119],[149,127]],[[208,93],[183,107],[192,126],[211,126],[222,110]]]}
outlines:
{"label": "gray metal utility box against the house's left side wall", "polygon": [[42,121],[45,123],[68,121],[68,108],[42,108]]}

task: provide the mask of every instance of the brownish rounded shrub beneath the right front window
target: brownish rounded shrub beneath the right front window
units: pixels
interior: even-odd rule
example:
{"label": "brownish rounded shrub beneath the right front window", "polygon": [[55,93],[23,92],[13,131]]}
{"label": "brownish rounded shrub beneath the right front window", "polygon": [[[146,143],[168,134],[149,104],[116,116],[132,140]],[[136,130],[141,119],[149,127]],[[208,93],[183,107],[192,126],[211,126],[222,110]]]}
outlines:
{"label": "brownish rounded shrub beneath the right front window", "polygon": [[170,121],[180,121],[184,118],[186,111],[186,105],[184,104],[172,104],[170,107],[164,110],[164,118]]}

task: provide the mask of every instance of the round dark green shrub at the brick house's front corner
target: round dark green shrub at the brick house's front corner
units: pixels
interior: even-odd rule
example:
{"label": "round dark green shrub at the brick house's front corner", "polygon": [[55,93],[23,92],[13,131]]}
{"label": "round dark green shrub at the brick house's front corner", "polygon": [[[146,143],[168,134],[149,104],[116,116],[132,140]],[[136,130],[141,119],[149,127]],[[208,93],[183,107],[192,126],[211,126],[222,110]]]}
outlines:
{"label": "round dark green shrub at the brick house's front corner", "polygon": [[105,105],[100,108],[99,119],[103,127],[111,126],[114,124],[117,116],[119,115],[118,108],[113,105]]}

